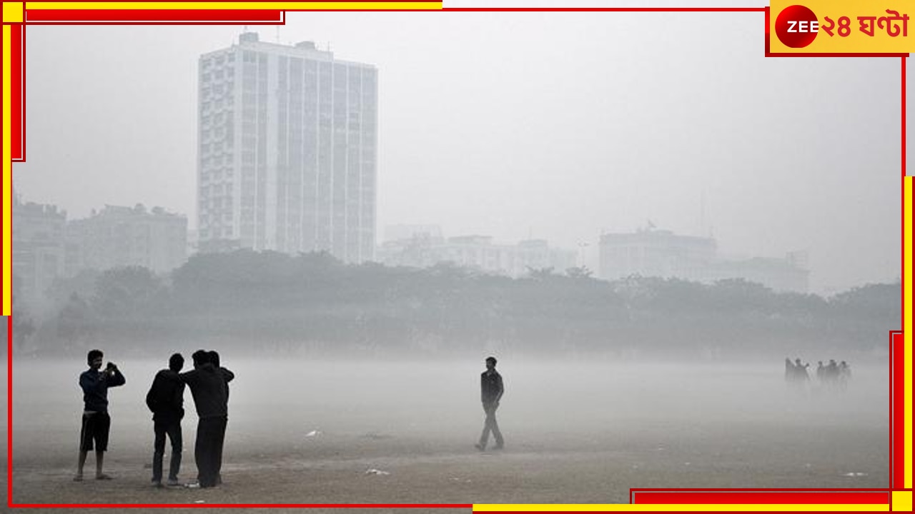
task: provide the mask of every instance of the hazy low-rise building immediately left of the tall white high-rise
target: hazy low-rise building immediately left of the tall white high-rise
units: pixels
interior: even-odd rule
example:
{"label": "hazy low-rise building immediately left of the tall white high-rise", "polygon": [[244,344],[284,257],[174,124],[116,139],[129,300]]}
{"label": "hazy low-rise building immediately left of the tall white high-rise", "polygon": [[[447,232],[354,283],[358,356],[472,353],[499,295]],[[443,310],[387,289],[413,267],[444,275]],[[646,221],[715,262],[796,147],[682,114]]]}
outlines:
{"label": "hazy low-rise building immediately left of the tall white high-rise", "polygon": [[143,266],[167,273],[182,265],[188,252],[188,218],[160,207],[147,210],[105,206],[67,226],[70,273]]}

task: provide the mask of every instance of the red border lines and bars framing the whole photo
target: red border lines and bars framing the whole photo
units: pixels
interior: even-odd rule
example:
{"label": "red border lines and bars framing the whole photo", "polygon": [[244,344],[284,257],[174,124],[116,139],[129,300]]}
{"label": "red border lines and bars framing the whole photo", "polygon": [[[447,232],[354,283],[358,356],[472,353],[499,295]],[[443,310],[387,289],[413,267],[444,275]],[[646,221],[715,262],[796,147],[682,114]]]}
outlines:
{"label": "red border lines and bars framing the whole photo", "polygon": [[[25,5],[25,4],[23,4]],[[347,9],[320,9],[323,11],[347,11]],[[376,11],[383,9],[357,10]],[[416,9],[417,11],[420,9]],[[902,177],[906,175],[906,58],[908,54],[819,54],[819,53],[772,53],[770,52],[769,33],[769,7],[493,7],[493,8],[443,8],[443,11],[455,12],[763,12],[765,14],[765,56],[766,57],[883,57],[901,58],[901,100],[902,100]],[[23,23],[5,24],[13,27],[13,85],[12,109],[13,116],[13,160],[24,161],[26,157],[25,141],[25,30],[26,25],[281,25],[285,24],[285,12],[307,11],[305,9],[287,9],[285,11],[270,10],[96,10],[93,16],[88,16],[84,10],[25,10]],[[41,13],[38,15],[38,13]],[[252,17],[251,15],[254,16]],[[271,14],[279,15],[277,21],[269,21]],[[127,16],[130,15],[130,16]],[[204,16],[206,15],[206,16]],[[242,16],[243,15],[243,16]],[[38,16],[38,17],[36,17]],[[93,19],[91,19],[93,18]],[[206,18],[210,18],[207,20]],[[216,18],[216,19],[212,19]],[[79,21],[72,21],[77,19]],[[274,18],[275,20],[276,18]],[[69,21],[68,21],[69,20]],[[16,51],[16,50],[19,51]],[[18,80],[16,80],[18,79]],[[18,100],[18,102],[17,102]],[[17,130],[18,129],[18,130]],[[18,150],[18,154],[16,153]],[[915,187],[913,187],[915,188]],[[902,214],[905,216],[905,213]],[[904,273],[904,266],[903,266]],[[906,277],[903,275],[902,280]],[[903,298],[903,303],[904,303]],[[472,508],[472,504],[14,504],[13,503],[13,319],[7,317],[7,506],[10,508],[222,508],[222,509],[250,509],[250,508]],[[820,503],[820,504],[845,504],[848,498],[855,498],[854,503],[883,504],[888,503],[892,509],[889,498],[891,490],[902,489],[903,486],[903,445],[904,400],[902,391],[904,381],[902,369],[905,363],[905,348],[902,333],[890,332],[890,481],[887,489],[630,489],[630,502],[636,502],[636,496],[642,498],[640,503],[656,504],[721,504],[721,503],[746,503],[746,504],[774,504],[774,503]],[[896,449],[894,453],[892,450]],[[911,489],[903,489],[911,490]],[[849,496],[851,495],[851,496]],[[885,498],[884,498],[885,497]],[[652,501],[646,501],[649,498]],[[733,501],[737,498],[742,501]],[[801,500],[799,501],[799,498]],[[789,500],[790,501],[787,501]],[[749,500],[749,501],[748,501]]]}

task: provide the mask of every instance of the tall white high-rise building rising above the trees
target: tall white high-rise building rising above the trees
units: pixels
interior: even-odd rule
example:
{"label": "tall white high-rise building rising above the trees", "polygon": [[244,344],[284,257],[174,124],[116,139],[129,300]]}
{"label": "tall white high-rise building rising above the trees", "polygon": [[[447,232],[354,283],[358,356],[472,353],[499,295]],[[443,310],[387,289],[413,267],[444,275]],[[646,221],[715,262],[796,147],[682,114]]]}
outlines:
{"label": "tall white high-rise building rising above the trees", "polygon": [[375,247],[378,70],[244,33],[199,59],[201,252]]}

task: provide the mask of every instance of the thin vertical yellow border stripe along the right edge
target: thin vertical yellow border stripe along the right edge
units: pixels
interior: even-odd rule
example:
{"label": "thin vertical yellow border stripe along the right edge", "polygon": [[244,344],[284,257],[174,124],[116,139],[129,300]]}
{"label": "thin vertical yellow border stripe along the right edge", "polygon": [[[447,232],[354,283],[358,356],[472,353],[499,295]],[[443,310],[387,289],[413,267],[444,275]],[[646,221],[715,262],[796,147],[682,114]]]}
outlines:
{"label": "thin vertical yellow border stripe along the right edge", "polygon": [[[908,123],[907,123],[908,124]],[[912,487],[912,177],[902,178],[903,487]]]}

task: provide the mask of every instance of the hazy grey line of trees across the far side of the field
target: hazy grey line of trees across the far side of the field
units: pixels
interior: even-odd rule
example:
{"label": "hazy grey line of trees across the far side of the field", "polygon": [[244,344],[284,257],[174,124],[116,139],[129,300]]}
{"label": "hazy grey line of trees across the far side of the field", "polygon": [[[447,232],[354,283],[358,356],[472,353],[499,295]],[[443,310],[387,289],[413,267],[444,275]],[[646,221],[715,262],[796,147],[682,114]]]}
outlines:
{"label": "hazy grey line of trees across the far side of the field", "polygon": [[250,250],[197,254],[166,276],[142,267],[86,271],[46,296],[40,309],[20,307],[16,348],[159,355],[188,343],[253,355],[708,358],[869,351],[886,348],[888,331],[901,325],[899,283],[827,299],[743,280],[608,282],[586,268],[511,279],[446,263],[354,265],[328,253]]}

